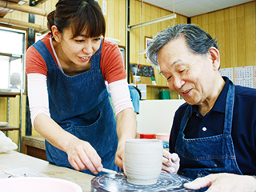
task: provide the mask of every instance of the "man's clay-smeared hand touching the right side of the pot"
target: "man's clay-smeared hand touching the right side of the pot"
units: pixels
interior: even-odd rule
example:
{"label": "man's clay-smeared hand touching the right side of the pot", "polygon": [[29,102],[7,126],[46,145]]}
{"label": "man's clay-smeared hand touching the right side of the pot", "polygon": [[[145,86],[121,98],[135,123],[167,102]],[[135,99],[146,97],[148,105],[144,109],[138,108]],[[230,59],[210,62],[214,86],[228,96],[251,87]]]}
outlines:
{"label": "man's clay-smeared hand touching the right side of the pot", "polygon": [[162,153],[162,171],[170,174],[177,174],[179,169],[178,154],[170,154],[167,150]]}

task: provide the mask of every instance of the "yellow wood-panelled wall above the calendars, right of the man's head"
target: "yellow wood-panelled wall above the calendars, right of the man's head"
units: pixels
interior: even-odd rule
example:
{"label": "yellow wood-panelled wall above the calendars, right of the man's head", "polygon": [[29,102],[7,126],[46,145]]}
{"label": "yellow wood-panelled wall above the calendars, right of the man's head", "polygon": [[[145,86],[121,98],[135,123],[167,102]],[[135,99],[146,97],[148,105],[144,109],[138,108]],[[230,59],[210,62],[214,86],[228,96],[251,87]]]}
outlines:
{"label": "yellow wood-panelled wall above the calendars, right of the man's head", "polygon": [[221,68],[256,65],[256,1],[191,18],[218,39]]}

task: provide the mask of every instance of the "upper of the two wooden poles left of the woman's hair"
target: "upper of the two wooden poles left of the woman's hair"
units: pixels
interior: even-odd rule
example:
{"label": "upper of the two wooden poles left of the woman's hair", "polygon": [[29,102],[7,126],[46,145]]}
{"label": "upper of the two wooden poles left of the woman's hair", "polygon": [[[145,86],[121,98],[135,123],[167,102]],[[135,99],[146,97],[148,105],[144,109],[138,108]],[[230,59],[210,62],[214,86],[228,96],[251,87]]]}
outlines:
{"label": "upper of the two wooden poles left of the woman's hair", "polygon": [[22,6],[22,5],[18,5],[14,2],[6,2],[6,1],[0,1],[0,7],[3,8],[7,8],[10,10],[19,10],[22,12],[26,12],[29,14],[38,14],[38,15],[42,15],[42,16],[46,16],[47,14],[50,13],[49,10],[42,10],[36,7],[32,7],[32,6]]}

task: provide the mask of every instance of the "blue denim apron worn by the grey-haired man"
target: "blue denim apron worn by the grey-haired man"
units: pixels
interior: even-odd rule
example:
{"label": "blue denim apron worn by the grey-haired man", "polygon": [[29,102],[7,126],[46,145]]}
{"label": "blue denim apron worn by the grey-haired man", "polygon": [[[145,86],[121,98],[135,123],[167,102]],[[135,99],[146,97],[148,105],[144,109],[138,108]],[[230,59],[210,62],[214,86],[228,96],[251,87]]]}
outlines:
{"label": "blue denim apron worn by the grey-haired man", "polygon": [[[231,137],[234,108],[234,84],[230,82],[226,96],[226,114],[223,134],[206,138],[186,139],[183,131],[190,118],[189,105],[181,122],[175,152],[180,158],[180,171],[188,178],[203,177],[214,173],[242,174],[234,154]],[[216,119],[218,121],[218,119]]]}

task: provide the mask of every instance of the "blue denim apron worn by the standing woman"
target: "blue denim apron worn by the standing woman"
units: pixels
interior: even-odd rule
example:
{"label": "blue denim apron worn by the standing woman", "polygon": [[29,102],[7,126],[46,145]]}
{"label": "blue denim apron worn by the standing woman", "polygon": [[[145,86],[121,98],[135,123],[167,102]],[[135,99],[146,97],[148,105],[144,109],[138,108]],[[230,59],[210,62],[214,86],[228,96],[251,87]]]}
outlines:
{"label": "blue denim apron worn by the standing woman", "polygon": [[[90,70],[67,76],[54,62],[54,58],[40,40],[34,48],[42,55],[48,68],[47,88],[50,117],[70,134],[89,142],[102,158],[102,165],[119,171],[114,164],[118,135],[106,84],[100,69],[101,47],[91,57]],[[66,152],[46,141],[46,157],[58,166],[73,168]],[[90,170],[82,170],[92,174]],[[99,173],[101,174],[101,173]]]}

